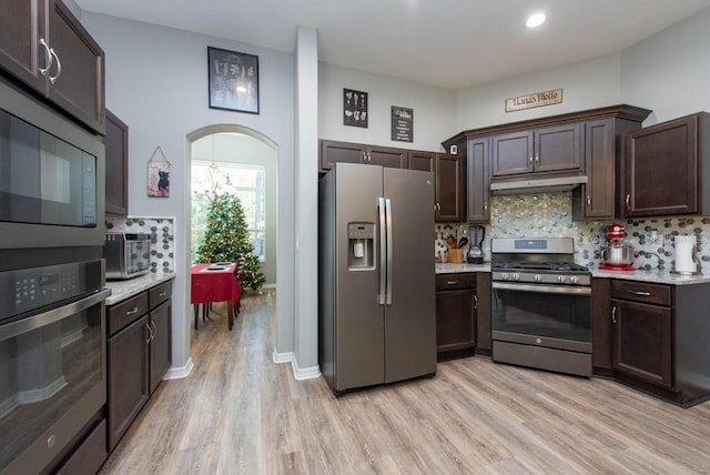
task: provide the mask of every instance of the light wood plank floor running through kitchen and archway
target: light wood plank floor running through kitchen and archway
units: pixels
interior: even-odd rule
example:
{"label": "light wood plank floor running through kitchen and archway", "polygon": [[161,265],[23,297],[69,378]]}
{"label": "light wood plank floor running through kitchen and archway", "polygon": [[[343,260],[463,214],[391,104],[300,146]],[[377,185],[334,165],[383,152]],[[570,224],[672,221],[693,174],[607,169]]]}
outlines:
{"label": "light wood plank floor running through kitchen and archway", "polygon": [[213,316],[195,367],[165,381],[102,474],[702,474],[710,402],[474,357],[434,378],[333,396],[271,362],[274,294],[232,332]]}

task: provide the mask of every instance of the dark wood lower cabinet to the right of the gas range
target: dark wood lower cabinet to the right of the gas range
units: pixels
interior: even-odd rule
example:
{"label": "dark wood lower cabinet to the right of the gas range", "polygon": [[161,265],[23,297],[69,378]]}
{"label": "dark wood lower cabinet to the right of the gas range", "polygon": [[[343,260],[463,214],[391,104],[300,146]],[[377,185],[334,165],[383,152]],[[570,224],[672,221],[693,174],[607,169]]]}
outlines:
{"label": "dark wood lower cabinet to the right of the gas range", "polygon": [[[708,292],[710,284],[611,280],[608,320],[613,378],[683,406],[709,400]],[[600,345],[604,326],[599,312],[594,335],[601,336],[594,342],[594,351],[601,355],[594,355],[595,370],[607,363]]]}

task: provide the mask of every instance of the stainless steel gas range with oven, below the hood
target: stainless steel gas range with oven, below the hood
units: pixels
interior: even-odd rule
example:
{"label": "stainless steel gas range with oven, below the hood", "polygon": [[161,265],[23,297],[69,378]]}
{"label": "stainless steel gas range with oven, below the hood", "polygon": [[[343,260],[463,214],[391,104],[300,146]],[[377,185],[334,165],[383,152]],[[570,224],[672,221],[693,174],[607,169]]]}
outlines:
{"label": "stainless steel gas range with oven, below the hood", "polygon": [[591,273],[571,238],[491,240],[493,360],[591,375]]}

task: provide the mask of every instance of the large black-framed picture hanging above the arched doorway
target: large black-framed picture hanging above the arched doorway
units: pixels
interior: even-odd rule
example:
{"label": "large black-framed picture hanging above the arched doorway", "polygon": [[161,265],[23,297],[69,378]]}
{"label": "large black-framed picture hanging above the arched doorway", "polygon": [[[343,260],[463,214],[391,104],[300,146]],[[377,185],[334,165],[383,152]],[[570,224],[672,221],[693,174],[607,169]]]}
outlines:
{"label": "large black-framed picture hanging above the arched doorway", "polygon": [[258,113],[258,57],[207,47],[210,108]]}

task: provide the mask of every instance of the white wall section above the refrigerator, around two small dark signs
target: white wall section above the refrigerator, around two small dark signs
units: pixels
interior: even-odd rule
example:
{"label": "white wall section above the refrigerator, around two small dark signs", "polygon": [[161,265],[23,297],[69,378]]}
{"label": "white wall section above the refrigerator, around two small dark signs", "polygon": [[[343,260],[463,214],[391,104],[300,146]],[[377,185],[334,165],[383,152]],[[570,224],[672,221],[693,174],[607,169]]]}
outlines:
{"label": "white wall section above the refrigerator, around two small dark signs", "polygon": [[[343,89],[367,92],[368,127],[343,125]],[[318,138],[399,149],[443,151],[458,130],[456,92],[333,64],[318,65]],[[414,141],[392,140],[392,107],[414,109]]]}

